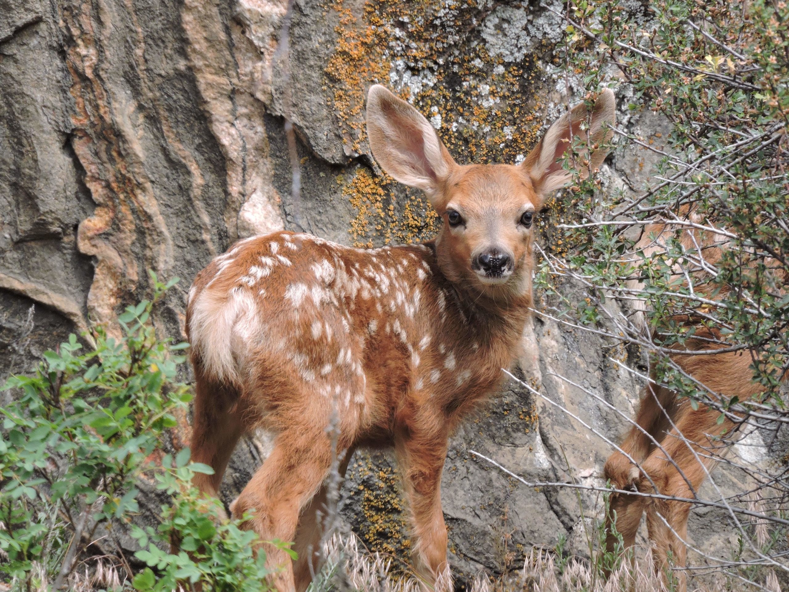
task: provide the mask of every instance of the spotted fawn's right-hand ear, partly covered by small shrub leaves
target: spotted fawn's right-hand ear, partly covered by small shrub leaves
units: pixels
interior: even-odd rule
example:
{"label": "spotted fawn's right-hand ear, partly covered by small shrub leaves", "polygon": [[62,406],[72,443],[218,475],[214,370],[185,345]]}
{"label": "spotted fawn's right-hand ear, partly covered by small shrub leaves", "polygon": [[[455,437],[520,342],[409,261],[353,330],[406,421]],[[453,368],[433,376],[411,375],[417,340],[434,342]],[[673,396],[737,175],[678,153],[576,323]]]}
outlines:
{"label": "spotted fawn's right-hand ear, partly covered by small shrub leaves", "polygon": [[[581,124],[584,122],[589,123],[587,129],[581,129]],[[556,161],[561,159],[565,152],[570,152],[574,137],[580,137],[584,144],[578,159],[581,161],[589,159],[589,165],[581,166],[581,163],[578,163],[577,168],[581,178],[586,178],[590,169],[600,168],[609,152],[602,148],[602,144],[611,140],[611,136],[614,135],[611,128],[615,123],[616,99],[614,92],[606,88],[600,92],[591,113],[585,103],[581,103],[563,114],[548,128],[540,143],[529,152],[521,165],[532,179],[534,189],[541,199],[544,200],[552,191],[570,182],[572,174],[562,168],[561,162]],[[591,157],[586,148],[587,144],[592,146],[598,144],[598,148],[593,149]]]}

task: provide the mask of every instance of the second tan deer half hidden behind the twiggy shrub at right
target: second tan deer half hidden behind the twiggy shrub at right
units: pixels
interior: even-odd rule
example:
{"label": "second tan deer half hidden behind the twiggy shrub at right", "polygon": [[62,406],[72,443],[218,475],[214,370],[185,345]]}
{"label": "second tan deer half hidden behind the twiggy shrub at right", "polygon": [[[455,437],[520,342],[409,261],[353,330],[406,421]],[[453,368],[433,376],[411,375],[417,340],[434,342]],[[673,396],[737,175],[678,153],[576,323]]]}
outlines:
{"label": "second tan deer half hidden behind the twiggy shrub at right", "polygon": [[[690,211],[687,206],[680,210],[680,216],[690,222],[701,224],[704,221]],[[659,249],[665,249],[667,239],[678,230],[677,225],[652,224],[645,227],[641,239],[636,243],[636,253],[649,257]],[[701,231],[697,228],[682,230],[679,242],[687,253],[684,264],[690,264],[689,276],[682,275],[680,263],[675,263],[675,279],[681,281],[693,278],[697,294],[707,298],[720,296],[723,290],[713,290],[706,284],[704,266],[716,264],[726,249],[719,234]],[[686,280],[687,281],[687,280]],[[643,288],[637,279],[631,279],[629,287],[633,291]],[[639,302],[637,309],[644,309]],[[639,311],[639,317],[643,313]],[[718,328],[703,326],[690,316],[675,317],[678,325],[694,326],[694,337],[687,339],[682,346],[676,345],[678,353],[671,354],[671,360],[698,383],[704,384],[709,391],[729,398],[737,395],[740,401],[750,399],[763,392],[761,384],[753,382],[753,358],[750,352],[728,351],[720,354],[681,354],[679,351],[720,350],[731,346]],[[655,377],[651,377],[653,380]],[[713,399],[717,395],[711,395]],[[690,405],[689,399],[679,399],[675,392],[657,384],[648,384],[641,395],[638,412],[630,431],[620,448],[639,466],[635,466],[622,452],[616,451],[605,463],[605,477],[611,480],[616,489],[632,490],[641,493],[660,493],[665,496],[693,498],[704,482],[708,471],[727,448],[721,437],[731,433],[735,422],[728,416],[721,424],[717,423],[719,412],[699,404]],[[649,435],[648,435],[649,434]],[[649,477],[648,477],[649,476]],[[611,494],[610,512],[607,517],[607,547],[615,549],[617,538],[612,532],[611,523],[622,535],[625,547],[634,544],[641,515],[646,511],[649,540],[653,543],[656,569],[667,575],[669,558],[675,566],[686,565],[687,521],[690,504],[674,500],[658,500],[644,496],[630,496],[626,493]],[[678,592],[687,587],[686,574],[676,572]]]}

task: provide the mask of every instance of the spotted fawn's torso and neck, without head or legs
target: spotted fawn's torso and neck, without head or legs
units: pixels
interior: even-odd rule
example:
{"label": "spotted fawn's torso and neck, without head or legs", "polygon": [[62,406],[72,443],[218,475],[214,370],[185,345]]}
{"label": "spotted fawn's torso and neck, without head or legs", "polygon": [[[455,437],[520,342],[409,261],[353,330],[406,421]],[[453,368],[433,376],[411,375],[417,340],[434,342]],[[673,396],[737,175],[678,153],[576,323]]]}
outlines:
{"label": "spotted fawn's torso and neck, without head or legs", "polygon": [[[528,305],[530,291],[520,298]],[[472,302],[432,244],[353,249],[279,232],[239,242],[200,273],[188,324],[208,377],[263,394],[249,406],[254,423],[326,425],[336,410],[353,440],[388,432],[411,404],[451,416],[473,404],[510,363],[526,311]]]}

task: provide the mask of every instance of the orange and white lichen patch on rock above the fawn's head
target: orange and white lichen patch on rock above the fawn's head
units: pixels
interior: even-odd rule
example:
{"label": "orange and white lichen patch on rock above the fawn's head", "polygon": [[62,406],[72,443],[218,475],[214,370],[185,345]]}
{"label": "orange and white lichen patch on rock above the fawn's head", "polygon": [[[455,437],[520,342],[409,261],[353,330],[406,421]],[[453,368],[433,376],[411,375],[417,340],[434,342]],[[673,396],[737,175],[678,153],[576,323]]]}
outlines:
{"label": "orange and white lichen patch on rock above the fawn's head", "polygon": [[[411,80],[428,73],[424,84],[393,88],[428,117],[439,116],[441,135],[455,155],[475,162],[511,162],[537,139],[542,118],[534,98],[542,74],[533,56],[521,62],[492,58],[484,43],[463,52],[448,51],[451,37],[466,35],[482,11],[459,2],[365,2],[354,16],[350,0],[338,0],[338,43],[326,73],[333,104],[344,131],[363,139],[365,90],[374,82],[391,87],[390,73],[407,69]],[[440,9],[455,9],[453,21],[440,21]],[[394,43],[396,42],[396,43]],[[398,63],[399,62],[399,63]],[[454,125],[457,124],[457,125]]]}

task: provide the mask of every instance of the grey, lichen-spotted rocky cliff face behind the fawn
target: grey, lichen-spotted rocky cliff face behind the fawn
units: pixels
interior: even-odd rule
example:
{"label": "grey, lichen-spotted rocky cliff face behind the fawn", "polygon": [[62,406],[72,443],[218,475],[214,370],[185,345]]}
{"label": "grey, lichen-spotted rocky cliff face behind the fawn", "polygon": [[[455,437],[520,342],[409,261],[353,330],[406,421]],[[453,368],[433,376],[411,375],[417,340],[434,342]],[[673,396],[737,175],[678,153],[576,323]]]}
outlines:
{"label": "grey, lichen-spotted rocky cliff face behind the fawn", "polygon": [[[28,369],[90,322],[110,323],[144,296],[149,268],[182,279],[157,320],[181,338],[189,283],[237,238],[282,227],[357,245],[429,237],[436,219],[424,199],[369,155],[366,88],[381,82],[409,99],[459,162],[518,163],[573,92],[551,75],[562,24],[537,4],[297,0],[289,51],[278,52],[284,0],[0,0],[0,374]],[[284,115],[296,129],[297,200]],[[611,186],[638,189],[650,163],[620,154],[609,164]],[[551,226],[545,212],[543,244],[559,248]],[[638,352],[543,317],[525,339],[524,380],[617,440],[626,422],[584,389],[631,414],[639,380],[613,360],[636,363]],[[599,496],[527,488],[472,449],[529,481],[587,484],[601,483],[610,451],[510,380],[447,459],[458,574],[501,570],[560,537],[585,553]],[[265,454],[255,438],[239,446],[228,499]],[[401,553],[394,475],[386,455],[358,454],[342,515],[372,549]],[[726,538],[718,514],[690,526],[708,549]]]}

